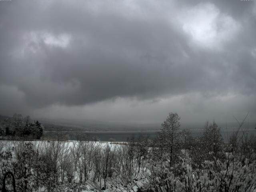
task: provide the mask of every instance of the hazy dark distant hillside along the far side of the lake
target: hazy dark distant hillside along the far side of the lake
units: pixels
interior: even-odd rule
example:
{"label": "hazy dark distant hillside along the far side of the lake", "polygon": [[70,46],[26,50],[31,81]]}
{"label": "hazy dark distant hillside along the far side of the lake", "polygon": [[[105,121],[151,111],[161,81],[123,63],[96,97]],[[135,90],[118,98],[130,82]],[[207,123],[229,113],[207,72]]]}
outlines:
{"label": "hazy dark distant hillside along the far side of the lake", "polygon": [[[9,116],[0,115],[0,121]],[[116,123],[116,122],[102,122],[96,120],[83,120],[83,119],[50,119],[50,118],[36,118],[44,125],[45,131],[152,131],[160,130],[159,124],[135,124],[135,123]],[[34,120],[32,120],[34,121]],[[211,122],[210,122],[211,123]],[[205,122],[198,122],[198,124],[181,124],[182,129],[202,130],[204,129]],[[235,129],[238,127],[237,122],[219,123],[218,126],[222,130]],[[243,128],[254,129],[255,122],[244,122]]]}

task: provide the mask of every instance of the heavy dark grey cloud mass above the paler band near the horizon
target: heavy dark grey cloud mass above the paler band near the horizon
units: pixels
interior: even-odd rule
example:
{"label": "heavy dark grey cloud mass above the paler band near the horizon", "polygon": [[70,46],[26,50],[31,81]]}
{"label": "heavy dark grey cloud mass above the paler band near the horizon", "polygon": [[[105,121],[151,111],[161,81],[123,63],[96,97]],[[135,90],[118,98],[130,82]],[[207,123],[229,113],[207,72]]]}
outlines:
{"label": "heavy dark grey cloud mass above the paler band near the horizon", "polygon": [[[22,93],[19,99],[3,94],[0,99],[13,111],[16,102],[21,109],[39,110],[113,98],[143,101],[192,93],[251,98],[256,93],[255,4],[0,3],[0,85],[2,92],[16,87]],[[229,19],[224,24],[236,22],[237,32],[224,36],[231,40],[213,38],[216,46],[201,46],[184,31],[179,23],[184,10],[205,3],[219,11],[217,24],[222,17]]]}

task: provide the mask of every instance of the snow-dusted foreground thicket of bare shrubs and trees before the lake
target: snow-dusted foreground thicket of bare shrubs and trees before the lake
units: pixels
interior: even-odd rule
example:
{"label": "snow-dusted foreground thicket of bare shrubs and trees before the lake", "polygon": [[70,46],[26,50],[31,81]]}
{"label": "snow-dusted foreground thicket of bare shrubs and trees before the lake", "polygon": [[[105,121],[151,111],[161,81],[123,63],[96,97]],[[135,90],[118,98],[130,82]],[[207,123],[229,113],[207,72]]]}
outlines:
{"label": "snow-dusted foreground thicket of bare shrubs and trees before the lake", "polygon": [[[256,137],[243,131],[243,123],[228,144],[216,122],[193,137],[180,130],[176,113],[155,139],[99,143],[78,133],[72,142],[64,134],[48,141],[2,141],[0,187],[10,171],[17,191],[252,192]],[[11,178],[7,183],[12,190]]]}

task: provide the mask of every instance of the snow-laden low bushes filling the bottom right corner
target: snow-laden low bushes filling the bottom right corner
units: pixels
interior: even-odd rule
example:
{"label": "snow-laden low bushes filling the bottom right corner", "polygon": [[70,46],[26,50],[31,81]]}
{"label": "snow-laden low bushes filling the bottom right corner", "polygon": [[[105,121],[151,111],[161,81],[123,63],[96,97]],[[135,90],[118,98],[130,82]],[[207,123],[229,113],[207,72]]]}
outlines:
{"label": "snow-laden low bushes filling the bottom right corner", "polygon": [[234,159],[206,161],[202,169],[193,169],[190,163],[191,159],[183,160],[180,176],[159,164],[152,165],[147,188],[156,192],[252,192],[256,189],[255,160],[251,163],[248,159],[245,162]]}

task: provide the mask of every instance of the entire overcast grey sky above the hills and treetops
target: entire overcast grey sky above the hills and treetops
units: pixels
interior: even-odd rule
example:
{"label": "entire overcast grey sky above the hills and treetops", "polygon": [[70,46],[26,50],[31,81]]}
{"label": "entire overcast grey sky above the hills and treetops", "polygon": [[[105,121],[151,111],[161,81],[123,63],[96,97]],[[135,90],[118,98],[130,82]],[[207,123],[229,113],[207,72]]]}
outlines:
{"label": "entire overcast grey sky above the hills and treetops", "polygon": [[256,1],[0,1],[0,114],[256,121]]}

